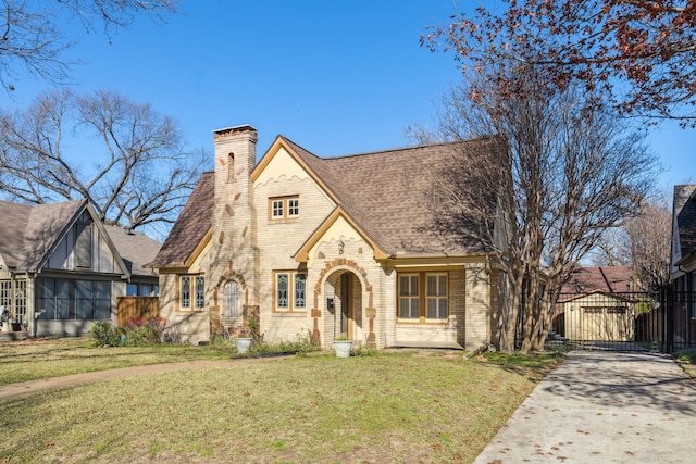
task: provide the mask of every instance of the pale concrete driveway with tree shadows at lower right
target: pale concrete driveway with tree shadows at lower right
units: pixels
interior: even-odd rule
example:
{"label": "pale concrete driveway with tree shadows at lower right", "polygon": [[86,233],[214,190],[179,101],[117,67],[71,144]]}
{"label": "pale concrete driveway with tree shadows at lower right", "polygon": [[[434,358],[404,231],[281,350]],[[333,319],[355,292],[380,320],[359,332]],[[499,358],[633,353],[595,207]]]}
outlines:
{"label": "pale concrete driveway with tree shadows at lower right", "polygon": [[696,385],[670,359],[573,351],[474,464],[696,462]]}

